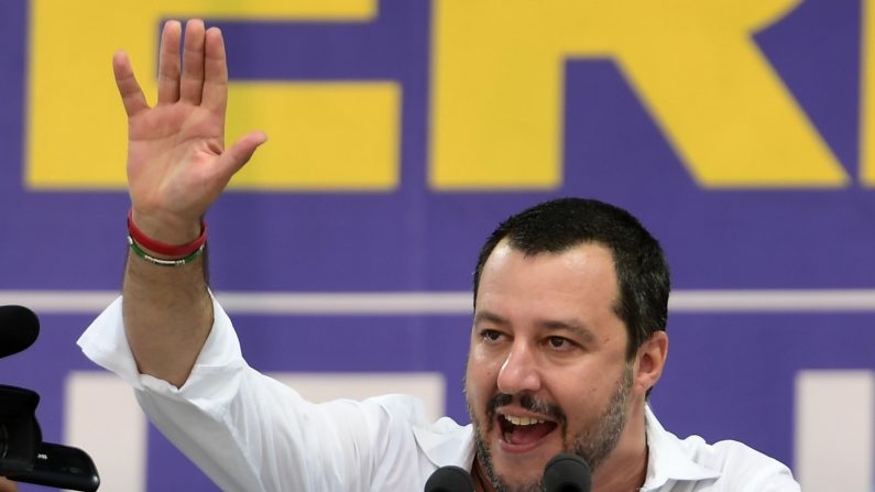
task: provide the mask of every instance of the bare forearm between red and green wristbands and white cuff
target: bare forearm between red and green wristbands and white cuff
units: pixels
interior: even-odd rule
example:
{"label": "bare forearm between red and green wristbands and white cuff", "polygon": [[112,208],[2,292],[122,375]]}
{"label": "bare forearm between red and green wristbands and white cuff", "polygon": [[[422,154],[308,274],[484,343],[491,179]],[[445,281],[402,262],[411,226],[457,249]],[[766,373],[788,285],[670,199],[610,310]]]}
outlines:
{"label": "bare forearm between red and green wristbands and white cuff", "polygon": [[128,343],[136,367],[181,387],[212,326],[212,302],[201,254],[182,266],[160,266],[129,254],[122,287]]}

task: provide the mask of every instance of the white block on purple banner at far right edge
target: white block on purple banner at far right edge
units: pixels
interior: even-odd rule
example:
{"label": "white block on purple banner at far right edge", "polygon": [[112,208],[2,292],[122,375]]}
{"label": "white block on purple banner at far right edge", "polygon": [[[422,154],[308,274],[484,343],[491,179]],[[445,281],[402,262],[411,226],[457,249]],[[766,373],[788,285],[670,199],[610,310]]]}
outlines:
{"label": "white block on purple banner at far right edge", "polygon": [[794,468],[802,490],[871,491],[874,462],[875,372],[800,371]]}

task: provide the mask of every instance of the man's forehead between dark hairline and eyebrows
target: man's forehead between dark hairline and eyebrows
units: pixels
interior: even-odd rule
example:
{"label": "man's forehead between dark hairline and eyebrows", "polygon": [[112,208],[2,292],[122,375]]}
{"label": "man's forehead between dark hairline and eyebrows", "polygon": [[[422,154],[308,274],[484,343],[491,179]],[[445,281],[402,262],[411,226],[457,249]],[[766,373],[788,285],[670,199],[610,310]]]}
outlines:
{"label": "man's forehead between dark hairline and eyebrows", "polygon": [[483,265],[477,310],[548,318],[615,317],[617,296],[613,255],[602,244],[525,255],[502,241]]}

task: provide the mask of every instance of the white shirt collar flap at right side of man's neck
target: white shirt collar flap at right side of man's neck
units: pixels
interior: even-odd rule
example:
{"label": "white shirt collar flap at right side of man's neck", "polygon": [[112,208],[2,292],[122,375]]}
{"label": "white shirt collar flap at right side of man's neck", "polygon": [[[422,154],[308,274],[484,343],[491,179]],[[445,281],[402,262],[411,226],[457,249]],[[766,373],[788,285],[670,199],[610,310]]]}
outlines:
{"label": "white shirt collar flap at right side of man's neck", "polygon": [[680,439],[663,428],[649,405],[644,406],[644,419],[649,459],[643,491],[658,489],[669,480],[694,481],[720,477],[720,470],[703,467],[685,452]]}

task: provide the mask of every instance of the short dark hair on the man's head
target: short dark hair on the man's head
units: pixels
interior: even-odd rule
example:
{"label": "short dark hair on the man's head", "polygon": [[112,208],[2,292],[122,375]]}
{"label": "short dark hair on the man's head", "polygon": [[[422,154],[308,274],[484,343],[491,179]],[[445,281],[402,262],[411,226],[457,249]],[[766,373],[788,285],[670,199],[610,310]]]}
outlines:
{"label": "short dark hair on the man's head", "polygon": [[510,217],[492,232],[477,260],[474,307],[483,264],[503,239],[527,256],[561,253],[582,243],[611,251],[620,292],[614,313],[628,334],[626,359],[666,329],[670,278],[659,242],[630,212],[602,201],[559,198]]}

